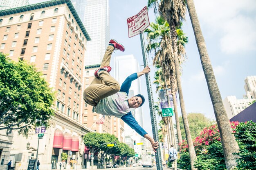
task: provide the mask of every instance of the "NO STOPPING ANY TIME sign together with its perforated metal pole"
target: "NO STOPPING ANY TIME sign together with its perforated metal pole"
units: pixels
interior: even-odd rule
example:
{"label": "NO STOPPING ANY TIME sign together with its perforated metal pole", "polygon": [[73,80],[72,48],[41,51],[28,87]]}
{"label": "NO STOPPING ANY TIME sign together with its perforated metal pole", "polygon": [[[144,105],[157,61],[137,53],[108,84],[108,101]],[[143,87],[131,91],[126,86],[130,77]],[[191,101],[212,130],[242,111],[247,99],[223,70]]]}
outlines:
{"label": "NO STOPPING ANY TIME sign together with its perforated metal pole", "polygon": [[[145,45],[143,31],[149,26],[147,7],[144,7],[143,9],[141,9],[141,11],[137,13],[137,15],[129,17],[127,19],[127,24],[128,24],[129,37],[133,37],[139,34],[142,56],[143,56],[143,63],[144,63],[144,67],[146,67],[148,65],[148,57],[146,52],[146,45]],[[149,102],[149,109],[150,109],[153,138],[155,141],[159,141],[150,74],[145,74],[145,77],[146,77],[146,85],[147,85],[147,91],[148,91],[148,102]],[[157,148],[157,153],[155,153],[155,162],[156,162],[157,170],[163,170],[160,148]]]}

